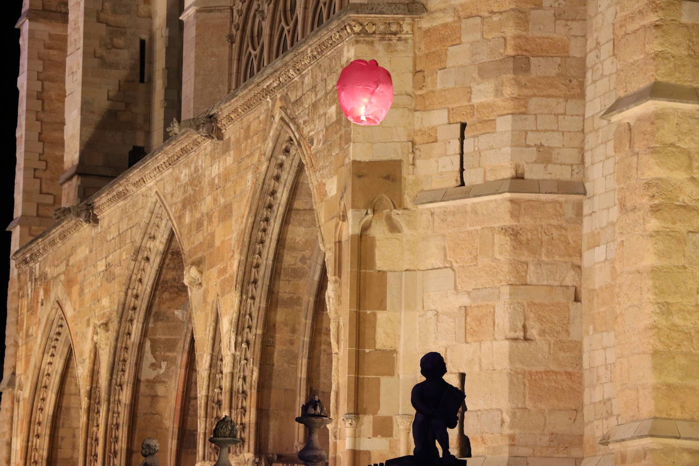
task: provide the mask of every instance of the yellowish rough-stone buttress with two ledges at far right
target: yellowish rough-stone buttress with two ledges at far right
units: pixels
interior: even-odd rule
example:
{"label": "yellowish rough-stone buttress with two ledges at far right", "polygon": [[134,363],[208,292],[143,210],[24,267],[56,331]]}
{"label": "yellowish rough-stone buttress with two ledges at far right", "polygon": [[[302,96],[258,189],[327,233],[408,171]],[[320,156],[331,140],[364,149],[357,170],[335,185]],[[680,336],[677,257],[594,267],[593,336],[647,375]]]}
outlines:
{"label": "yellowish rough-stone buttress with two ledges at far right", "polygon": [[[699,461],[699,34],[694,1],[619,2],[615,465]],[[682,421],[677,421],[682,419]]]}

